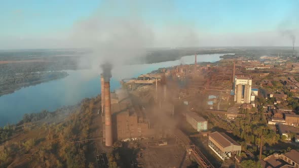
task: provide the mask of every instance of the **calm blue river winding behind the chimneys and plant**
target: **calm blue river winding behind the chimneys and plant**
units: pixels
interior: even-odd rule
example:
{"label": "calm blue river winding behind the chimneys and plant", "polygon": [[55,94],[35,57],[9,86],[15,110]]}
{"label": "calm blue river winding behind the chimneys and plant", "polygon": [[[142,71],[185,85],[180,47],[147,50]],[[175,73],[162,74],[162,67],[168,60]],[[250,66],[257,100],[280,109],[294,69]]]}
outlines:
{"label": "calm blue river winding behind the chimneys and plant", "polygon": [[[223,54],[198,55],[199,61],[215,62]],[[194,63],[194,56],[185,56],[180,60],[155,64],[115,67],[110,81],[111,90],[120,87],[119,79],[136,77],[162,67]],[[15,93],[0,97],[0,127],[7,123],[18,122],[25,113],[54,111],[65,105],[73,105],[84,98],[100,94],[100,72],[93,70],[67,71],[68,76],[39,85],[22,88]]]}

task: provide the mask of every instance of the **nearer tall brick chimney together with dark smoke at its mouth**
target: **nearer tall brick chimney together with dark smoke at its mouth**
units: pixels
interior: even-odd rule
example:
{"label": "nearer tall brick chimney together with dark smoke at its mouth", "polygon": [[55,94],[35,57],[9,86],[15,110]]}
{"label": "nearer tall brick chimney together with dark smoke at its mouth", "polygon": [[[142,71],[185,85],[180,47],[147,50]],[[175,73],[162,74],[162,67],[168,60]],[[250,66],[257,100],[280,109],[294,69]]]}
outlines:
{"label": "nearer tall brick chimney together with dark smoke at its mouth", "polygon": [[101,65],[104,78],[104,99],[105,99],[105,145],[113,145],[113,132],[111,123],[111,102],[110,102],[110,78],[112,65],[110,63],[105,63]]}

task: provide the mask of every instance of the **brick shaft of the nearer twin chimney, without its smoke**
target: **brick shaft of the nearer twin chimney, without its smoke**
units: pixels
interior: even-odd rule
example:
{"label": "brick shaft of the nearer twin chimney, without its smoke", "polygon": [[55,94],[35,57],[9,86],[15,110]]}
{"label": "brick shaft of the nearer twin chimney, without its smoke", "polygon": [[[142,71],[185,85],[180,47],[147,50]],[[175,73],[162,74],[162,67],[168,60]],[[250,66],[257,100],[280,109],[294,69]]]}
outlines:
{"label": "brick shaft of the nearer twin chimney, without its smoke", "polygon": [[112,146],[112,125],[111,125],[111,102],[110,102],[110,82],[104,82],[105,90],[105,145]]}

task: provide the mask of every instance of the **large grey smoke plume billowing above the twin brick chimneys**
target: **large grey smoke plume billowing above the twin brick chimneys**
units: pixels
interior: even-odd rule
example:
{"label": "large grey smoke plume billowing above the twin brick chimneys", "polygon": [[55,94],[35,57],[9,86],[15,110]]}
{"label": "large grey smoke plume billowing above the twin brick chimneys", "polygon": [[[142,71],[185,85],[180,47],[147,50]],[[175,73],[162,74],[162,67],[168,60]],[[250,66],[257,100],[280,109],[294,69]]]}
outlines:
{"label": "large grey smoke plume billowing above the twin brick chimneys", "polygon": [[[154,26],[155,23],[145,21],[143,18],[147,6],[138,4],[138,1],[113,2],[103,2],[92,16],[74,23],[71,32],[73,46],[90,48],[93,51],[79,61],[79,66],[88,65],[99,72],[100,64],[109,63],[111,68],[113,65],[113,76],[121,79],[138,71],[136,69],[124,71],[122,66],[141,63],[146,55],[146,48],[190,47],[190,45],[196,46],[199,41],[198,34],[192,26],[188,24],[177,26],[181,23],[176,22],[176,25],[172,22],[179,20],[178,18],[170,18],[171,15],[161,16],[165,18],[166,23],[157,28]],[[159,8],[155,4],[149,5]]]}

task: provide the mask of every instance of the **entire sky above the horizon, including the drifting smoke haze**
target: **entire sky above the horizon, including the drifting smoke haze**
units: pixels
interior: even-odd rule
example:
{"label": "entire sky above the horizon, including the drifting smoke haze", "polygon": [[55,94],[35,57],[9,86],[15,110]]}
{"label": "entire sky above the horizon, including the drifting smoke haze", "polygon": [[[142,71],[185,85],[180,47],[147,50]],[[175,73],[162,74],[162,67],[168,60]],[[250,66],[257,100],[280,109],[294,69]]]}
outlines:
{"label": "entire sky above the horizon, including the drifting smoke haze", "polygon": [[1,50],[292,46],[299,35],[297,1],[17,2],[2,4]]}

